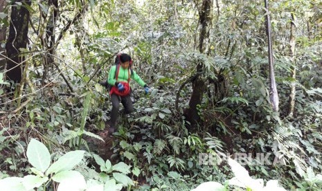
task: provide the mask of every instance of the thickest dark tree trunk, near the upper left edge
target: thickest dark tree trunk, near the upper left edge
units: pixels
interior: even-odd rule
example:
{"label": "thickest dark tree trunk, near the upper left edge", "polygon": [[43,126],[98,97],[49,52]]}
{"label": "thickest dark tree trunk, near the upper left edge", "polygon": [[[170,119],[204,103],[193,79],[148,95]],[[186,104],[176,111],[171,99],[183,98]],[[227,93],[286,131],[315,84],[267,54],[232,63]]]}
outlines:
{"label": "thickest dark tree trunk, near the upper left edge", "polygon": [[[31,0],[15,1],[31,5]],[[15,83],[21,82],[24,71],[24,56],[20,55],[20,48],[27,48],[28,43],[28,24],[30,12],[24,6],[12,6],[10,14],[9,35],[6,42],[8,55],[7,77]]]}

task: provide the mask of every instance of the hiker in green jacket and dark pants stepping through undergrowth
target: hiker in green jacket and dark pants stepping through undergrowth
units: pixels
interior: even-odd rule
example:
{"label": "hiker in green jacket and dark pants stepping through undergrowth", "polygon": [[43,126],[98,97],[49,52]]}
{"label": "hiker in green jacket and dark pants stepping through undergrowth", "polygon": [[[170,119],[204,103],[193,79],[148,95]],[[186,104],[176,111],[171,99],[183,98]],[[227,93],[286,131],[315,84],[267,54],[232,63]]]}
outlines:
{"label": "hiker in green jacket and dark pants stepping through undergrowth", "polygon": [[109,134],[113,134],[117,129],[116,120],[118,118],[120,102],[122,102],[125,108],[125,113],[132,113],[133,111],[133,103],[130,98],[132,89],[129,87],[129,80],[132,78],[141,87],[144,87],[145,93],[149,92],[147,84],[133,71],[131,66],[132,58],[130,55],[125,53],[116,55],[115,64],[111,66],[107,82],[100,82],[103,86],[110,87],[109,96],[111,97],[112,109]]}

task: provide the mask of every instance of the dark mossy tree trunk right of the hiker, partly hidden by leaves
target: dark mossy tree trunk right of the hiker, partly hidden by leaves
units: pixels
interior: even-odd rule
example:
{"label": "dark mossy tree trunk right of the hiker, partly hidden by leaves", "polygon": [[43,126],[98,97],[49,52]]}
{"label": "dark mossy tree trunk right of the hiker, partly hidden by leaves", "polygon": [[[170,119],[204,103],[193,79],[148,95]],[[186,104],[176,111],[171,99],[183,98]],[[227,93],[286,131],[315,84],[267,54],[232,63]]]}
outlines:
{"label": "dark mossy tree trunk right of the hiker, partly hidden by leaves", "polygon": [[[208,40],[209,30],[211,28],[212,12],[213,0],[204,0],[202,3],[202,9],[199,11],[199,24],[201,25],[199,34],[200,53],[208,53]],[[203,64],[199,62],[197,64],[197,73],[201,74],[203,71]],[[200,121],[197,105],[202,103],[204,90],[204,80],[202,80],[201,75],[198,75],[198,77],[193,80],[193,93],[189,101],[189,108],[186,109],[184,113],[184,116],[186,116],[187,120],[190,122],[190,125],[193,127]]]}

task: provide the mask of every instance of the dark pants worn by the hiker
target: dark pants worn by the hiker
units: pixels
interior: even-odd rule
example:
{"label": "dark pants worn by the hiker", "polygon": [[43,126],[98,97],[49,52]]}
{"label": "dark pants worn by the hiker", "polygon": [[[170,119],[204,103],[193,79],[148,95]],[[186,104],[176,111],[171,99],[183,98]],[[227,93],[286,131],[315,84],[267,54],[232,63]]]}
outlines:
{"label": "dark pants worn by the hiker", "polygon": [[115,94],[111,95],[111,127],[116,129],[116,121],[118,119],[118,110],[120,109],[120,102],[122,102],[123,107],[125,108],[125,113],[132,113],[133,104],[130,96],[120,97]]}

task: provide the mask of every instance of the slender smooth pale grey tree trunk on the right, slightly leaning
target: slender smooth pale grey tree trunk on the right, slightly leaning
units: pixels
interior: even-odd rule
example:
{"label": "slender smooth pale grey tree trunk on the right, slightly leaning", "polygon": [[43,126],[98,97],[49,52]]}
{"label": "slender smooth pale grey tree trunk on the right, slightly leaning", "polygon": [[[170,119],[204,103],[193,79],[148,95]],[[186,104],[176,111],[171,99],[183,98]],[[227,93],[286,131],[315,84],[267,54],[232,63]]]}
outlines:
{"label": "slender smooth pale grey tree trunk on the right, slightly leaning", "polygon": [[273,60],[273,46],[271,43],[271,19],[269,18],[269,8],[268,0],[265,1],[266,8],[266,33],[267,33],[267,42],[268,42],[268,54],[269,54],[269,100],[271,101],[271,107],[274,111],[278,111],[278,92],[275,82],[275,73],[274,73],[274,60]]}

